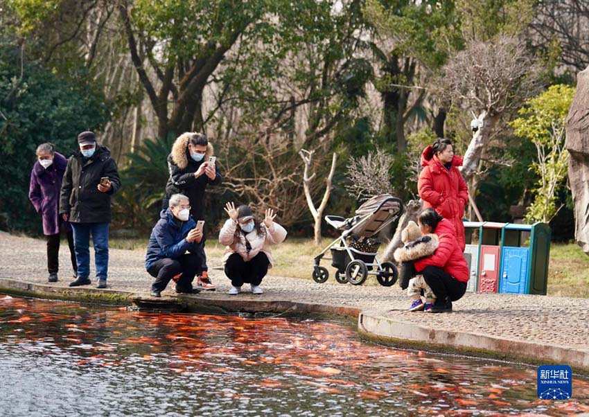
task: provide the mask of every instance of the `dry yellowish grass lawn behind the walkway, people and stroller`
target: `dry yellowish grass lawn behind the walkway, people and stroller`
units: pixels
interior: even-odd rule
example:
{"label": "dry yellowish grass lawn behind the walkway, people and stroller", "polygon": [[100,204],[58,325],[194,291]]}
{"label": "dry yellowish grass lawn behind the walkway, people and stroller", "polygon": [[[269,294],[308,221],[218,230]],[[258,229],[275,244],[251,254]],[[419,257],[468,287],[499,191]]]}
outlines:
{"label": "dry yellowish grass lawn behind the walkway, people and stroller", "polygon": [[[311,278],[313,258],[326,247],[331,240],[324,239],[322,246],[315,247],[312,239],[288,238],[282,245],[272,251],[276,265],[271,274]],[[111,239],[110,246],[117,249],[145,249],[147,239]],[[206,242],[206,254],[211,258],[220,258],[223,247],[216,240]],[[380,251],[384,249],[381,247]],[[326,256],[330,256],[327,254]],[[333,280],[335,269],[331,260],[324,260],[322,266],[329,270],[329,279]],[[550,266],[548,269],[548,295],[589,298],[589,256],[573,243],[553,243],[550,247]],[[369,276],[364,285],[378,285],[376,278]]]}

